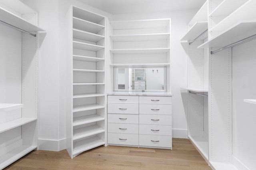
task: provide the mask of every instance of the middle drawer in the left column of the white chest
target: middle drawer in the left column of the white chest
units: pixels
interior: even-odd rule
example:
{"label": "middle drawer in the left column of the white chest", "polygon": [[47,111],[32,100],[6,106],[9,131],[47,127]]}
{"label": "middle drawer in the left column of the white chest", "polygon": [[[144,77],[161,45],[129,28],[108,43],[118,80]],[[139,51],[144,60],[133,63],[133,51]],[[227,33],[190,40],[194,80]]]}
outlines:
{"label": "middle drawer in the left column of the white chest", "polygon": [[139,115],[128,115],[128,114],[109,114],[108,123],[139,123]]}

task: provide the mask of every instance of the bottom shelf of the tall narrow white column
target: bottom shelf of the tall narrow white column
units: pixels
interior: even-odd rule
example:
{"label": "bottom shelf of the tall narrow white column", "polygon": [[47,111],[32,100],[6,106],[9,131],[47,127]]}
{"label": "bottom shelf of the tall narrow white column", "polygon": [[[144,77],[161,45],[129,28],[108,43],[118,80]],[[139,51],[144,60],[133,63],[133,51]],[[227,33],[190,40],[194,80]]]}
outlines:
{"label": "bottom shelf of the tall narrow white column", "polygon": [[80,154],[81,152],[101,146],[103,144],[105,144],[105,142],[97,136],[74,142],[73,155]]}

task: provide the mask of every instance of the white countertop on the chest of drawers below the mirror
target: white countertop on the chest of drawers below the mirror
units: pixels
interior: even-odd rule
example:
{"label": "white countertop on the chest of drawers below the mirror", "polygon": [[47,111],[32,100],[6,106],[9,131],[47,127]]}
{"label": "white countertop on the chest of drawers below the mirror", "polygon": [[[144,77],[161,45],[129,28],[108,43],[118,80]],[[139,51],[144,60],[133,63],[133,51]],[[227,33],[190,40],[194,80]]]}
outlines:
{"label": "white countertop on the chest of drawers below the mirror", "polygon": [[172,93],[161,92],[161,91],[112,91],[108,95],[117,96],[173,96]]}

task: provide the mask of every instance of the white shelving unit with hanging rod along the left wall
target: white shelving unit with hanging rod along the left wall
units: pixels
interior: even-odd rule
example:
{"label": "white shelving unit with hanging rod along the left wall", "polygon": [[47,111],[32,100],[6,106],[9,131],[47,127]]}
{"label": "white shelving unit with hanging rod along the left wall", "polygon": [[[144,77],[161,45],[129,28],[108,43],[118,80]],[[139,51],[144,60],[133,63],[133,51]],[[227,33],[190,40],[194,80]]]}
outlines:
{"label": "white shelving unit with hanging rod along the left wall", "polygon": [[44,30],[37,26],[38,13],[22,2],[13,0],[14,6],[7,1],[1,3],[4,6],[0,5],[0,20],[23,30],[0,24],[1,41],[5,42],[0,47],[0,77],[8,77],[0,80],[4,88],[0,96],[0,169],[3,169],[37,148],[37,32]]}

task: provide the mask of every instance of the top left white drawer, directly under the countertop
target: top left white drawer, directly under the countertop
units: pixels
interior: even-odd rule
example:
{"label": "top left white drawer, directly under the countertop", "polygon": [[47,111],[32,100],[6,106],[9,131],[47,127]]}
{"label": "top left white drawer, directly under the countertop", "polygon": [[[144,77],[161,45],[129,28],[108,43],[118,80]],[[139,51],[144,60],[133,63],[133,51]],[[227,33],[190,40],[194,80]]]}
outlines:
{"label": "top left white drawer, directly under the countertop", "polygon": [[108,103],[139,103],[139,97],[108,95]]}

